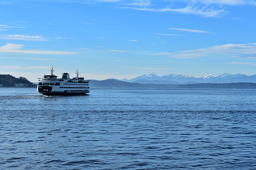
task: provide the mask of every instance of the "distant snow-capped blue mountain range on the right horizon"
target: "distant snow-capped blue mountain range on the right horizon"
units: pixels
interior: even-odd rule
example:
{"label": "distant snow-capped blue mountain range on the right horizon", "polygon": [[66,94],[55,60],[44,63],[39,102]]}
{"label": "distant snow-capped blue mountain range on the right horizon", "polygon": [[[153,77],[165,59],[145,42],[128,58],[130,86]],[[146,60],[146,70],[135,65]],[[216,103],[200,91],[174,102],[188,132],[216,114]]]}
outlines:
{"label": "distant snow-capped blue mountain range on the right horizon", "polygon": [[224,73],[217,75],[206,75],[204,77],[192,77],[189,75],[164,75],[157,76],[153,73],[141,75],[134,79],[122,79],[126,82],[153,83],[153,84],[197,84],[197,83],[235,83],[235,82],[253,82],[256,83],[256,75],[230,74]]}

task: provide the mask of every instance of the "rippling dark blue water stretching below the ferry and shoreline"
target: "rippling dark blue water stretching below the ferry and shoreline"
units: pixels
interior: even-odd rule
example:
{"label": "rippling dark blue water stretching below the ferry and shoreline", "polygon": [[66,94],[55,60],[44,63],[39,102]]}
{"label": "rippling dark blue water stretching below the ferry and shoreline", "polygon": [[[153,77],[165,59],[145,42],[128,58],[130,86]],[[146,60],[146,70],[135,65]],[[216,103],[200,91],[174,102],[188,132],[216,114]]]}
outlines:
{"label": "rippling dark blue water stretching below the ferry and shoreline", "polygon": [[0,88],[0,169],[256,169],[256,90]]}

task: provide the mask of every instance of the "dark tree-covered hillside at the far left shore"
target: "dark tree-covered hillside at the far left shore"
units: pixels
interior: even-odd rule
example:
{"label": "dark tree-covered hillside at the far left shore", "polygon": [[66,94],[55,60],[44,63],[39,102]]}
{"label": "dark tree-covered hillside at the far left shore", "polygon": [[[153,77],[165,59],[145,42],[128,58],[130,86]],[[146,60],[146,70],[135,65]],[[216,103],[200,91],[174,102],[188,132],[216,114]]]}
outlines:
{"label": "dark tree-covered hillside at the far left shore", "polygon": [[0,84],[3,84],[3,87],[15,87],[15,83],[28,84],[28,87],[33,87],[33,83],[25,77],[16,78],[9,74],[0,74]]}

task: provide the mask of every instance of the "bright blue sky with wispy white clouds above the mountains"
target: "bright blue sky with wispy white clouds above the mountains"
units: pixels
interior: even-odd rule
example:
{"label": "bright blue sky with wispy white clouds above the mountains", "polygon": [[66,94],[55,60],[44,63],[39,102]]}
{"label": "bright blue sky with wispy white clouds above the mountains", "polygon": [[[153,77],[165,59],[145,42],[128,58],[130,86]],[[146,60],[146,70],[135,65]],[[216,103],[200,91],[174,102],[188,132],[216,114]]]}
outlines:
{"label": "bright blue sky with wispy white clouds above the mountains", "polygon": [[256,0],[5,0],[0,74],[256,74]]}

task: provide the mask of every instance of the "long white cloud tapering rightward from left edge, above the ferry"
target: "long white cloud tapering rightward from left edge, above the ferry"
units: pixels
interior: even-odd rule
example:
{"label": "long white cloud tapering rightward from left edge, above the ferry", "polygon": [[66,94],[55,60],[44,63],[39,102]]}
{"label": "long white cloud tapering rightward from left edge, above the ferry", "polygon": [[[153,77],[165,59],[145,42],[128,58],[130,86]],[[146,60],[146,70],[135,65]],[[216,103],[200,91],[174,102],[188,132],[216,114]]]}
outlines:
{"label": "long white cloud tapering rightward from left edge, above the ferry", "polygon": [[[68,52],[68,51],[20,50],[23,47],[24,47],[23,44],[7,43],[5,46],[0,47],[0,53],[1,52],[5,52],[5,53],[49,54],[49,55],[70,55],[70,54],[76,54],[74,52]],[[26,58],[26,59],[33,59],[33,58]],[[34,58],[34,59],[38,60],[38,58]]]}

